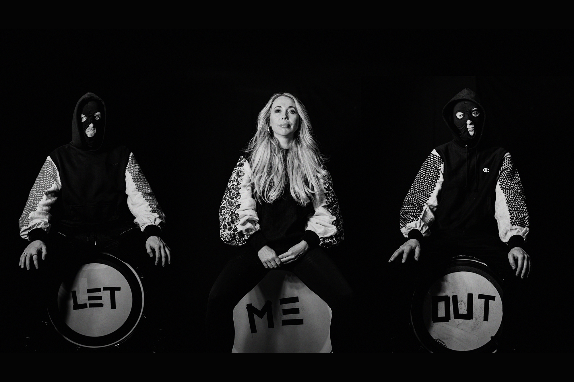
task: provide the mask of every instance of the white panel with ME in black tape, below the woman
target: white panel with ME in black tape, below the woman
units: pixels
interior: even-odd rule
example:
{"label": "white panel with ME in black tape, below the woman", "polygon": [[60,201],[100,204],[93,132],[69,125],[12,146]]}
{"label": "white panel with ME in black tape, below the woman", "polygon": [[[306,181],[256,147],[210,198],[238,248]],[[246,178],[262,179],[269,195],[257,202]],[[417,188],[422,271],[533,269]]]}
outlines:
{"label": "white panel with ME in black tape, below the woman", "polygon": [[329,353],[331,309],[292,272],[271,271],[233,310],[233,353]]}

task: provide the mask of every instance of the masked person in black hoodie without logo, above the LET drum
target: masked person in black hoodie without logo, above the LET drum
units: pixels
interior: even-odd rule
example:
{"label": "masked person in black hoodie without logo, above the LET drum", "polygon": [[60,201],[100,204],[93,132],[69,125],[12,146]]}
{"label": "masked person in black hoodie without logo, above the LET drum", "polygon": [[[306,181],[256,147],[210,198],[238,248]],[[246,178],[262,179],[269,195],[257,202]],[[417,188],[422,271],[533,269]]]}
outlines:
{"label": "masked person in black hoodie without logo, above the LET drum", "polygon": [[[30,191],[20,217],[22,238],[45,242],[49,232],[57,231],[91,241],[94,232],[117,237],[133,228],[148,239],[161,235],[164,212],[133,153],[106,141],[106,119],[106,104],[94,93],[77,102],[72,141],[46,158]],[[22,256],[34,255],[30,245]]]}

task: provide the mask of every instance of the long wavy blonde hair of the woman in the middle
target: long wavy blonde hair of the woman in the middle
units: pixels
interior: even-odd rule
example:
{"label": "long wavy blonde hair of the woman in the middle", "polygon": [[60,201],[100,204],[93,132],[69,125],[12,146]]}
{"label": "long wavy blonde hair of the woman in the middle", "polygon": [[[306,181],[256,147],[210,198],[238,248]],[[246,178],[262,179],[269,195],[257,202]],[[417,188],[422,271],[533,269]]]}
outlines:
{"label": "long wavy blonde hair of the woman in the middle", "polygon": [[[281,96],[293,100],[299,116],[299,128],[286,158],[282,155],[279,141],[269,132],[271,108],[274,100]],[[313,139],[307,110],[294,95],[275,93],[269,99],[259,112],[257,132],[246,151],[249,153],[255,196],[259,201],[272,203],[283,194],[287,180],[291,196],[301,205],[307,205],[319,191],[319,173],[325,159]]]}

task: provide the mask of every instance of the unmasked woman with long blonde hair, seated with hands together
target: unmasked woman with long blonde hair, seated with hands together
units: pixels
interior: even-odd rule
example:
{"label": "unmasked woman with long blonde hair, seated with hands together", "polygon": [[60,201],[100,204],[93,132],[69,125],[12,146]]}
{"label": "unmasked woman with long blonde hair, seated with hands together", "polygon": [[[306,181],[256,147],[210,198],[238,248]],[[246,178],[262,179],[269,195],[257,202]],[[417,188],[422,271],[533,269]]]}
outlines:
{"label": "unmasked woman with long blonde hair, seated with hands together", "polygon": [[222,240],[238,247],[211,289],[208,344],[229,352],[233,309],[273,269],[292,271],[328,303],[334,346],[351,300],[347,281],[324,248],[343,240],[343,221],[303,104],[276,93],[259,112],[257,132],[235,165],[219,209]]}

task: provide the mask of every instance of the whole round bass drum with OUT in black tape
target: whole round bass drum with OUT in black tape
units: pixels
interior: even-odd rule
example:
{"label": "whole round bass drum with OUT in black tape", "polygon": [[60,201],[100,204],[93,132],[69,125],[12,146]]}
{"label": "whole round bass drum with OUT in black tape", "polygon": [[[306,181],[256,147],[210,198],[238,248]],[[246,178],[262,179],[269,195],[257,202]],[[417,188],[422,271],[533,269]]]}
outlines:
{"label": "whole round bass drum with OUT in black tape", "polygon": [[429,352],[495,352],[502,280],[480,260],[456,256],[418,284],[410,319]]}

